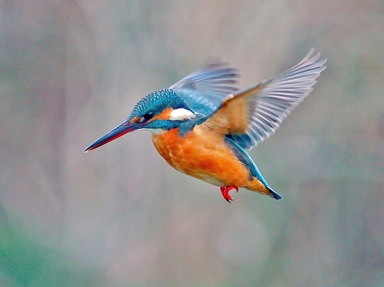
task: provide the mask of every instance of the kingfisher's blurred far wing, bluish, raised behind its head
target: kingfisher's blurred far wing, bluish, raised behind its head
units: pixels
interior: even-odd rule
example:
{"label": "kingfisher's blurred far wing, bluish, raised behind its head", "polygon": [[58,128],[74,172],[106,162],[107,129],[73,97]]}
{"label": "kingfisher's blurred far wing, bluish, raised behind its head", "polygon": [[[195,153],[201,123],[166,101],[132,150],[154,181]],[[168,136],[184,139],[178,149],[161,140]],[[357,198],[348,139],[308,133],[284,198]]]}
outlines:
{"label": "kingfisher's blurred far wing, bluish, raised behind its head", "polygon": [[196,112],[208,115],[222,103],[223,98],[238,90],[237,69],[218,59],[210,60],[205,66],[170,86],[187,105]]}

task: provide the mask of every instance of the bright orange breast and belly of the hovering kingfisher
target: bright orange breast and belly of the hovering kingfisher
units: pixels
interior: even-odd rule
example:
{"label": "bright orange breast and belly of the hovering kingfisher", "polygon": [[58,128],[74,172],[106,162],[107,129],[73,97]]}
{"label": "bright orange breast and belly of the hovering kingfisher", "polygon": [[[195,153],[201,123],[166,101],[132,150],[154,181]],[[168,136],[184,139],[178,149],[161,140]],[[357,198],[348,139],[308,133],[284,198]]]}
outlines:
{"label": "bright orange breast and belly of the hovering kingfisher", "polygon": [[232,154],[224,138],[196,126],[179,137],[179,129],[152,135],[159,154],[173,168],[217,186],[249,185],[249,170]]}

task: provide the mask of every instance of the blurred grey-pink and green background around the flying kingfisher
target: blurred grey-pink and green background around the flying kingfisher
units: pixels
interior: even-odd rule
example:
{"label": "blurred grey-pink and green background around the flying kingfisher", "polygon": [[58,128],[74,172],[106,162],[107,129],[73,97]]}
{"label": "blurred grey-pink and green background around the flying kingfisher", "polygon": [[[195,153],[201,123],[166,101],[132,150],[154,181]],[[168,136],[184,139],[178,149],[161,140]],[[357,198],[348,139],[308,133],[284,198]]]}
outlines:
{"label": "blurred grey-pink and green background around the flying kingfisher", "polygon": [[[0,286],[384,286],[384,3],[1,1]],[[82,151],[221,57],[310,97],[250,154],[283,197],[176,172],[149,132]]]}

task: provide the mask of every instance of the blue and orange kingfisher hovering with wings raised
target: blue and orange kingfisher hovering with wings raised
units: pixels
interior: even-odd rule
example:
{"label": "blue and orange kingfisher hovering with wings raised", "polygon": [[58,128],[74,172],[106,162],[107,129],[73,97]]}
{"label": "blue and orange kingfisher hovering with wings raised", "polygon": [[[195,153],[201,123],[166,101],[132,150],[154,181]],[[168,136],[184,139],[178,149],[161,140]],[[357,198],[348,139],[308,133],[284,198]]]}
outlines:
{"label": "blue and orange kingfisher hovering with wings raised", "polygon": [[129,117],[85,153],[135,130],[149,130],[158,153],[177,171],[220,187],[239,187],[279,200],[246,150],[272,135],[313,90],[326,68],[314,49],[297,65],[247,89],[237,69],[219,59],[170,86],[147,94]]}

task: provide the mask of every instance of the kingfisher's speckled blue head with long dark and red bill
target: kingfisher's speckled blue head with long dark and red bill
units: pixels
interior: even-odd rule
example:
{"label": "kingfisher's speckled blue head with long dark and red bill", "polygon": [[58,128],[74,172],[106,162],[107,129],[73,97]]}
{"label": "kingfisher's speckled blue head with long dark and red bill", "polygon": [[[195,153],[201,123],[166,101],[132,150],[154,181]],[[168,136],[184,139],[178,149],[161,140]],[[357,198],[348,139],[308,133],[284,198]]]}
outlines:
{"label": "kingfisher's speckled blue head with long dark and red bill", "polygon": [[195,116],[194,111],[174,90],[158,90],[142,98],[121,125],[92,143],[84,153],[135,130],[146,129],[154,134],[160,134],[179,127],[181,123],[190,121]]}

